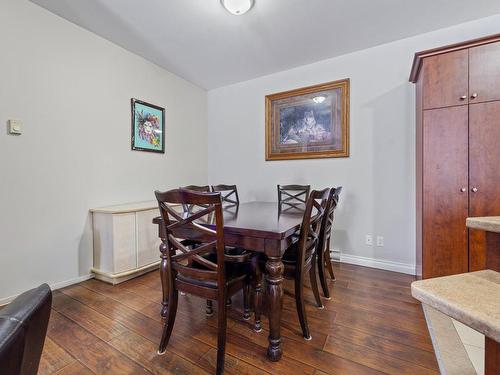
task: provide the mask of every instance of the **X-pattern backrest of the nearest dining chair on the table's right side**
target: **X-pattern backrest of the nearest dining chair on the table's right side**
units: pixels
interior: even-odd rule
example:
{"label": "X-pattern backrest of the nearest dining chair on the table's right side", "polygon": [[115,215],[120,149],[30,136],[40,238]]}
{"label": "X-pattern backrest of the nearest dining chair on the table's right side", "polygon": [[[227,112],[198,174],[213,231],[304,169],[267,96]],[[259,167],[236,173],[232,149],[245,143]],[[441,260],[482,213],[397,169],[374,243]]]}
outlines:
{"label": "X-pattern backrest of the nearest dining chair on the table's right side", "polygon": [[297,267],[299,273],[311,262],[314,251],[318,246],[329,193],[330,189],[328,188],[313,190],[307,199],[298,244]]}

